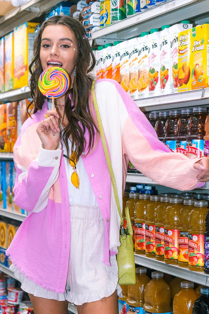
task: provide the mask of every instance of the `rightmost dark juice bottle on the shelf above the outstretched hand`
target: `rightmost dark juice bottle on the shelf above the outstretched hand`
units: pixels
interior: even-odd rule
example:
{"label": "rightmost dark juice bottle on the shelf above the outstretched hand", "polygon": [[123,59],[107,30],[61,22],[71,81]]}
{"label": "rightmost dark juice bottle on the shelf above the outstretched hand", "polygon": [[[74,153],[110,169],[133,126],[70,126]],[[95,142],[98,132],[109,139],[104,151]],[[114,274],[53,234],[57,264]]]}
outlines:
{"label": "rightmost dark juice bottle on the shelf above the outstretched hand", "polygon": [[207,109],[194,107],[189,118],[189,133],[186,140],[186,156],[189,158],[202,157],[204,154],[204,123]]}

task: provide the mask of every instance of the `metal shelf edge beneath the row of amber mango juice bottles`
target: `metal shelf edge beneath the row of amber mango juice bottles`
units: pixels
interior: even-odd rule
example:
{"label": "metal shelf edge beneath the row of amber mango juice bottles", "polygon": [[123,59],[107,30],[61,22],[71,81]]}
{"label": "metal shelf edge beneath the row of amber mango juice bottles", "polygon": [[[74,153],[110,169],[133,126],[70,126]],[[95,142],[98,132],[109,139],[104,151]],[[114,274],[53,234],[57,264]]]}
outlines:
{"label": "metal shelf edge beneath the row of amber mango juice bottles", "polygon": [[134,254],[135,263],[144,267],[152,268],[163,273],[167,273],[185,280],[209,286],[209,277],[204,272],[191,271],[187,268],[166,264],[146,256]]}

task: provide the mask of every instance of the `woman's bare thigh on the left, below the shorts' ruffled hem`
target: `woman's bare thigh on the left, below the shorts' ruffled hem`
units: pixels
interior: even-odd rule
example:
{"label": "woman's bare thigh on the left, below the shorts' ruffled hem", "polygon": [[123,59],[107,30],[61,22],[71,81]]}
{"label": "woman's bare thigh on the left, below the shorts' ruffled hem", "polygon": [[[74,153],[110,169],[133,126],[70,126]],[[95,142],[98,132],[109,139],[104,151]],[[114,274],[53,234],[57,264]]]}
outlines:
{"label": "woman's bare thigh on the left, below the shorts' ruffled hem", "polygon": [[34,314],[67,314],[68,301],[57,301],[29,294]]}

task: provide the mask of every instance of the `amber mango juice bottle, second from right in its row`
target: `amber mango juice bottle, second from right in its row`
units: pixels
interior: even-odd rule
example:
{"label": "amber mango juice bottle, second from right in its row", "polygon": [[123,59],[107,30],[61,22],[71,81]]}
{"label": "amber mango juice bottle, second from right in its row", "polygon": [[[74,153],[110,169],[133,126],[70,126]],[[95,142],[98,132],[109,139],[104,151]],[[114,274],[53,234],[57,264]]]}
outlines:
{"label": "amber mango juice bottle, second from right in its row", "polygon": [[193,199],[184,199],[183,207],[180,209],[178,227],[178,265],[188,267],[188,230],[189,215],[194,208]]}

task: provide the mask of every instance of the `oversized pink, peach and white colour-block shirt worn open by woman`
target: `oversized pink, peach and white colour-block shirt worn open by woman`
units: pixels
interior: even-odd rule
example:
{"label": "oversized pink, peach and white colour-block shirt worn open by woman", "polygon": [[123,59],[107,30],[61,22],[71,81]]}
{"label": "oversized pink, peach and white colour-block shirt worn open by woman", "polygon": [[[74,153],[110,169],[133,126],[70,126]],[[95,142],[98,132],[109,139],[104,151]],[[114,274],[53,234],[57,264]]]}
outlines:
{"label": "oversized pink, peach and white colour-block shirt worn open by woman", "polygon": [[[161,185],[179,190],[198,186],[199,171],[192,167],[196,160],[170,152],[117,82],[96,81],[95,92],[121,208],[129,160],[140,172]],[[92,103],[89,105],[93,112]],[[69,195],[62,149],[56,150],[55,157],[53,151],[47,163],[40,158],[43,152],[36,127],[46,111],[47,101],[42,110],[24,123],[14,147],[15,202],[30,213],[6,254],[30,280],[48,290],[63,293],[70,263]],[[83,152],[81,158],[104,219],[103,262],[110,265],[110,255],[116,254],[120,245],[120,217],[100,138],[91,153],[85,155]]]}

